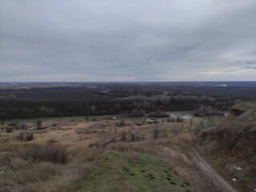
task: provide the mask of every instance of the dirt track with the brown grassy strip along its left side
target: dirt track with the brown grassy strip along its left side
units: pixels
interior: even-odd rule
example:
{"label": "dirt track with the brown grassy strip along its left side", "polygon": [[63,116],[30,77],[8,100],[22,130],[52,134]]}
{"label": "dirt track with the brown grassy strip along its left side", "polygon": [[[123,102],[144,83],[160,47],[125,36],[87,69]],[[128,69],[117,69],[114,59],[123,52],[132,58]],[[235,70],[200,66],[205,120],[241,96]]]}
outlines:
{"label": "dirt track with the brown grassy strip along its left side", "polygon": [[194,147],[182,146],[179,150],[164,147],[164,151],[172,159],[174,169],[187,181],[194,183],[195,186],[201,186],[202,191],[238,192],[198,154]]}

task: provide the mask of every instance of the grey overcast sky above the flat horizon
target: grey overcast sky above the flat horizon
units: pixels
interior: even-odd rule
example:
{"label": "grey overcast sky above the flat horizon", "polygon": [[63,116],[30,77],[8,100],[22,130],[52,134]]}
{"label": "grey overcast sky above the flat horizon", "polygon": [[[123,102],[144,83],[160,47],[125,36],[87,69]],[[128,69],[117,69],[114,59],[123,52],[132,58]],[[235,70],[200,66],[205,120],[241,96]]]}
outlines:
{"label": "grey overcast sky above the flat horizon", "polygon": [[255,0],[1,0],[0,82],[256,80]]}

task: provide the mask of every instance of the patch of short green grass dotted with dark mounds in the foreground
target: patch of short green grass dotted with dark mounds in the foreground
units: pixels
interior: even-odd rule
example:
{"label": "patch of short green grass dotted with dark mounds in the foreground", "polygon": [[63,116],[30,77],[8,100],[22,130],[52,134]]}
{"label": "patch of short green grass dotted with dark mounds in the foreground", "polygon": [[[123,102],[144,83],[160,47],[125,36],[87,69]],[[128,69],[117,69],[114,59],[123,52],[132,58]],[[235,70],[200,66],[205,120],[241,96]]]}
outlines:
{"label": "patch of short green grass dotted with dark mounds in the foreground", "polygon": [[106,153],[83,191],[195,191],[167,162],[134,151]]}

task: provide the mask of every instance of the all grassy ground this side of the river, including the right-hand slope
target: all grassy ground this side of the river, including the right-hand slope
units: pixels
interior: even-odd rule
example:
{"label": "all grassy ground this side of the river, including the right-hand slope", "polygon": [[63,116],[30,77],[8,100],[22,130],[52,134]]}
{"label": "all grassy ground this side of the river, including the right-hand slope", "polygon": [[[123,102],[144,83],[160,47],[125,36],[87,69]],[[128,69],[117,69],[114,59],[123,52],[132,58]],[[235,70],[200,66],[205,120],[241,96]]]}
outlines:
{"label": "all grassy ground this side of the river, including the right-hand slope", "polygon": [[231,192],[238,191],[235,186],[244,192],[256,187],[254,115],[252,106],[230,119],[99,115],[6,121],[0,125],[0,191]]}

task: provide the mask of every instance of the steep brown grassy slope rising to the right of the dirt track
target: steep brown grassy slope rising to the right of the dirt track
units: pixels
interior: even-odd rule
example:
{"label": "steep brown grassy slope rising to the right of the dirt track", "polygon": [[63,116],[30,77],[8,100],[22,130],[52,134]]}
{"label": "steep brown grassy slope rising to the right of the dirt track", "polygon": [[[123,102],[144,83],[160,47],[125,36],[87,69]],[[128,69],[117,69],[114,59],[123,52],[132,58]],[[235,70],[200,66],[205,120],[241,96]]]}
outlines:
{"label": "steep brown grassy slope rising to the right of the dirt track", "polygon": [[[202,130],[199,148],[239,190],[256,189],[256,108],[226,119],[214,128]],[[236,170],[234,166],[242,170]]]}

